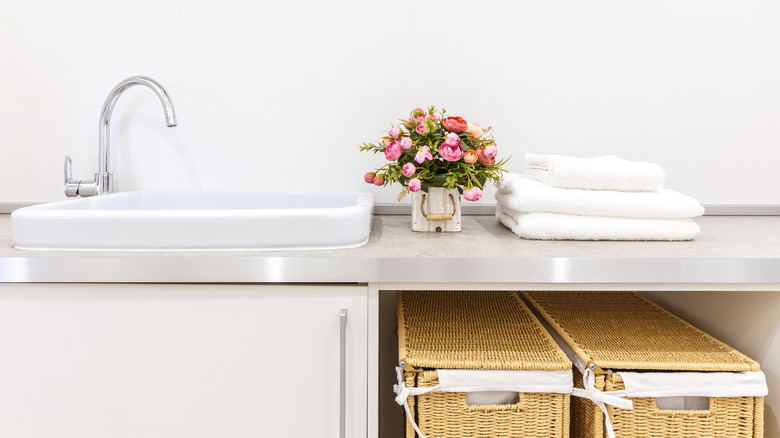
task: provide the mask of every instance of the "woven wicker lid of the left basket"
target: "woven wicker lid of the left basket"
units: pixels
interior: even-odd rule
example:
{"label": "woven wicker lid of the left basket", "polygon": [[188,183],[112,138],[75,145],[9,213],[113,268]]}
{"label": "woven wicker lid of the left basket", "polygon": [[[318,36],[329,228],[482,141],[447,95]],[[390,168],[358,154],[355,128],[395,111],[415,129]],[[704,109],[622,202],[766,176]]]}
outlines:
{"label": "woven wicker lid of the left basket", "polygon": [[567,370],[571,362],[514,292],[398,294],[399,358],[414,367]]}

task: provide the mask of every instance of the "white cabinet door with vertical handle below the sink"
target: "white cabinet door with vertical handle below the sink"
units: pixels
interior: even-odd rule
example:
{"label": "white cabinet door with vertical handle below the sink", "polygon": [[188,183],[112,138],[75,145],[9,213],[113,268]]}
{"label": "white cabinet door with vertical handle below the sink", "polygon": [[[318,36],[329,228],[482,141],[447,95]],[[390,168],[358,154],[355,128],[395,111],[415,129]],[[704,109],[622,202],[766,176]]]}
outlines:
{"label": "white cabinet door with vertical handle below the sink", "polygon": [[0,285],[5,438],[366,435],[367,288]]}

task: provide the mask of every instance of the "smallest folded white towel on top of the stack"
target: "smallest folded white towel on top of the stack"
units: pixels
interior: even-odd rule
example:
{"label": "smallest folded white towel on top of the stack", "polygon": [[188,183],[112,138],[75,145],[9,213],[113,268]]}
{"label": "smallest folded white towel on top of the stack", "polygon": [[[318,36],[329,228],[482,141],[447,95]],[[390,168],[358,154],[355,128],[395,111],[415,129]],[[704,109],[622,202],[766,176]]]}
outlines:
{"label": "smallest folded white towel on top of the stack", "polygon": [[657,164],[627,161],[612,155],[576,158],[526,154],[525,161],[530,178],[568,189],[652,191],[663,187],[666,178]]}

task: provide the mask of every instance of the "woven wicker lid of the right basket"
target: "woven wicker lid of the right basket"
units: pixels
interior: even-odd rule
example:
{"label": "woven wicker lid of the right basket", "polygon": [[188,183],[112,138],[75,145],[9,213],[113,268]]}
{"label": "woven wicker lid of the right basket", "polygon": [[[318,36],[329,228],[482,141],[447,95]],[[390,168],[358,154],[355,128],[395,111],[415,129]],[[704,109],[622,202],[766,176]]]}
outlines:
{"label": "woven wicker lid of the right basket", "polygon": [[634,292],[523,292],[585,362],[602,369],[758,371],[728,345]]}

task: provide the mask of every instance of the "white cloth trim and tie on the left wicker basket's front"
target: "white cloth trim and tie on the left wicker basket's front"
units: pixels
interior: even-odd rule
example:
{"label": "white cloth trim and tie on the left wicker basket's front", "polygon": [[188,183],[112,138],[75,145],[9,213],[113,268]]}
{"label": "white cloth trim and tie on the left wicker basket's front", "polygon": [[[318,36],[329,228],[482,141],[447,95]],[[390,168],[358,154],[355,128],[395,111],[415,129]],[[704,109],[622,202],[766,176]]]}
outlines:
{"label": "white cloth trim and tie on the left wicker basket's front", "polygon": [[[453,370],[437,369],[439,384],[428,388],[409,388],[404,381],[403,368],[396,367],[398,384],[393,385],[397,394],[395,402],[404,407],[406,416],[415,432],[422,437],[417,423],[409,410],[410,396],[429,392],[545,392],[556,394],[572,393],[571,370]],[[629,402],[631,403],[631,402]]]}

